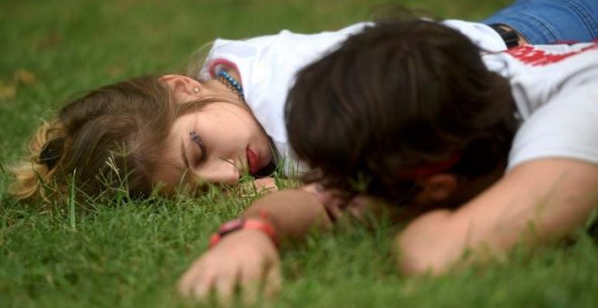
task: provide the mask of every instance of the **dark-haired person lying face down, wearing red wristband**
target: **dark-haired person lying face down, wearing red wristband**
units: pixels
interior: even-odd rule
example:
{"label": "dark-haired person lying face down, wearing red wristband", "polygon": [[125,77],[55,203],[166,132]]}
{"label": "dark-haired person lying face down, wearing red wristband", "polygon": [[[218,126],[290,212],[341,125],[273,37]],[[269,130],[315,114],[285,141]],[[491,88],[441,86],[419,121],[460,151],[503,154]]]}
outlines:
{"label": "dark-haired person lying face down, wearing red wristband", "polygon": [[598,43],[487,53],[431,21],[366,27],[299,72],[288,96],[290,144],[323,190],[256,200],[180,291],[275,288],[279,243],[380,203],[414,216],[394,238],[403,274],[569,236],[598,208],[597,102]]}

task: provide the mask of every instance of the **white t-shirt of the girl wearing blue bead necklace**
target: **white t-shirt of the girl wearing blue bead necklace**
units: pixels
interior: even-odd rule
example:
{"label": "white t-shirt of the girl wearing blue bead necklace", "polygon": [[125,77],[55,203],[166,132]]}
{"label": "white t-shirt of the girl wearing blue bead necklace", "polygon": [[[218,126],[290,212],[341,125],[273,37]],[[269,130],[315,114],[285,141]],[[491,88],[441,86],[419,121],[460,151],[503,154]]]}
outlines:
{"label": "white t-shirt of the girl wearing blue bead necklace", "polygon": [[[483,50],[497,52],[506,49],[500,36],[485,24],[458,20],[443,23],[467,35]],[[285,175],[294,176],[297,171],[306,169],[294,158],[285,128],[285,101],[293,87],[295,74],[305,65],[332,52],[349,35],[361,32],[369,24],[353,24],[339,31],[319,34],[294,34],[284,30],[279,34],[243,41],[217,39],[200,75],[214,77],[217,73],[215,63],[236,67],[247,105],[284,159]]]}

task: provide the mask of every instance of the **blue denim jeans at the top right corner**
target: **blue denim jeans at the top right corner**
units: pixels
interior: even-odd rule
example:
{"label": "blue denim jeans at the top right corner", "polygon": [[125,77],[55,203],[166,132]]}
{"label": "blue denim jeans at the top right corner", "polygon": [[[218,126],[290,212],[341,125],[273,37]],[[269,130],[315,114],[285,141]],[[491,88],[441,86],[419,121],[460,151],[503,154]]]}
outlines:
{"label": "blue denim jeans at the top right corner", "polygon": [[528,43],[598,40],[598,0],[517,0],[482,21],[506,24]]}

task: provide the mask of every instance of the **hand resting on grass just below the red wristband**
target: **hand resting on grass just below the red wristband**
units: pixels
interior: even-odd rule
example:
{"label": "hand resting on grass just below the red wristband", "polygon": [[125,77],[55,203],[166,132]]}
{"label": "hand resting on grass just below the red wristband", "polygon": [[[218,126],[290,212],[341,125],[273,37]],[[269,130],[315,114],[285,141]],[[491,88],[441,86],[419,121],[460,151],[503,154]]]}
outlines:
{"label": "hand resting on grass just below the red wristband", "polygon": [[260,291],[275,294],[280,284],[280,257],[270,237],[260,230],[243,229],[200,256],[181,277],[178,291],[200,301],[213,291],[218,302],[226,305],[237,285],[244,302],[255,303]]}

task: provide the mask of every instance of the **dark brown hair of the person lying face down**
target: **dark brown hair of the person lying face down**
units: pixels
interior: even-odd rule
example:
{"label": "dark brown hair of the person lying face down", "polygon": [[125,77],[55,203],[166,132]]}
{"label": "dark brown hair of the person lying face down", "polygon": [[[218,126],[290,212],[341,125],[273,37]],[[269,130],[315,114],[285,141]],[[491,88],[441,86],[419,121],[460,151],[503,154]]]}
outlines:
{"label": "dark brown hair of the person lying face down", "polygon": [[371,25],[298,73],[285,110],[289,141],[314,169],[306,179],[393,203],[407,201],[406,169],[454,157],[467,177],[506,159],[516,123],[505,78],[444,25]]}

